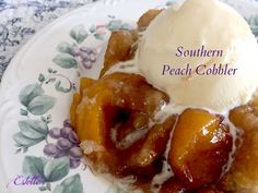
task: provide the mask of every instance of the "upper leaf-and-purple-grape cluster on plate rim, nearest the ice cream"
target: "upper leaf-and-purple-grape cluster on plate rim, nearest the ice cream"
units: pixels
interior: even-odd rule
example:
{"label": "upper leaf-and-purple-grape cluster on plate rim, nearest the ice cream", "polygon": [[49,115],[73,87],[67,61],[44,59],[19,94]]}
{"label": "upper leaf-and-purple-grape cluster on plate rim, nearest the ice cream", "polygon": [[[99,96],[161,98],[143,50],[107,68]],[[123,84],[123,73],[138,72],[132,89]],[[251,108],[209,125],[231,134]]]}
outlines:
{"label": "upper leaf-and-purple-grape cluster on plate rim, nearest the ice cream", "polygon": [[[85,29],[83,25],[73,27],[70,32],[70,37],[73,43],[60,43],[57,47],[60,53],[57,55],[52,61],[63,69],[91,69],[93,63],[96,61],[98,48],[83,47],[81,44],[87,38],[104,40],[104,35],[106,35],[107,31],[129,31],[131,28],[128,23],[124,23],[121,20],[116,20],[113,15],[108,15],[108,17],[110,21],[107,24],[93,24],[89,31]],[[80,74],[80,72],[78,73]]]}

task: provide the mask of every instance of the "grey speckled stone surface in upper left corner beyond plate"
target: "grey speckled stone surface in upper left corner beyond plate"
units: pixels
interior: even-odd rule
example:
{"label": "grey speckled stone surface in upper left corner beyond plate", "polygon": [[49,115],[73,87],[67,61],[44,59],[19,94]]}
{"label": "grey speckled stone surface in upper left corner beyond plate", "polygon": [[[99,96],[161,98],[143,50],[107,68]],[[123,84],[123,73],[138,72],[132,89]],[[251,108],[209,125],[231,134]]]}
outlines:
{"label": "grey speckled stone surface in upper left corner beyond plate", "polygon": [[97,0],[0,0],[0,82],[19,49],[42,27]]}

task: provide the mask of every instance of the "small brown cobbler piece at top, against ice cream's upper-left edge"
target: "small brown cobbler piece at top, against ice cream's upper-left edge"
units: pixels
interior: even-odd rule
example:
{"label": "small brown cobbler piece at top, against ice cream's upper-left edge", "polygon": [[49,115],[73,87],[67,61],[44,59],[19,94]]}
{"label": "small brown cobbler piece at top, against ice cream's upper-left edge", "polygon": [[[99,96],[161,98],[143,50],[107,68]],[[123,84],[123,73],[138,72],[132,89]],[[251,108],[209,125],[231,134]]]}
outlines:
{"label": "small brown cobbler piece at top, against ice cream's upper-left edge", "polygon": [[162,12],[163,10],[152,9],[146,11],[138,21],[138,29],[144,31],[150,23]]}

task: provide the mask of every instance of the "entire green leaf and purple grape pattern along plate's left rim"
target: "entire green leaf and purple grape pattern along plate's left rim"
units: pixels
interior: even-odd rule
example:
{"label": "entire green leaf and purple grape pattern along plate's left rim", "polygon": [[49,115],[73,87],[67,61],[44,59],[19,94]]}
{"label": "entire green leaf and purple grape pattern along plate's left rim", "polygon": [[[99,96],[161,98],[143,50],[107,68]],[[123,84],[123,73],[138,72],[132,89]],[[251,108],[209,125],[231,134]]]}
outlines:
{"label": "entire green leaf and purple grape pattern along plate's left rim", "polygon": [[[115,16],[108,15],[108,17],[110,21],[107,24],[92,25],[90,29],[83,25],[72,27],[69,33],[71,41],[62,41],[57,46],[59,53],[52,59],[54,64],[67,70],[80,68],[90,70],[96,61],[97,48],[84,47],[82,43],[87,38],[104,40],[104,35],[108,31],[131,28],[129,24],[116,20]],[[64,83],[69,86],[63,86]],[[23,173],[40,176],[44,180],[44,183],[38,186],[40,191],[83,193],[79,173],[66,178],[71,169],[77,169],[81,164],[82,150],[79,147],[79,138],[69,120],[64,120],[61,128],[50,129],[51,114],[48,112],[55,108],[57,98],[46,94],[43,85],[55,85],[56,92],[63,94],[75,91],[75,84],[52,68],[48,68],[45,74],[40,73],[36,83],[21,89],[20,113],[24,119],[17,122],[20,131],[13,135],[16,154],[26,154],[30,147],[46,143],[43,149],[46,157],[25,156]],[[62,180],[63,178],[66,179]],[[51,183],[60,180],[62,182],[54,189]]]}

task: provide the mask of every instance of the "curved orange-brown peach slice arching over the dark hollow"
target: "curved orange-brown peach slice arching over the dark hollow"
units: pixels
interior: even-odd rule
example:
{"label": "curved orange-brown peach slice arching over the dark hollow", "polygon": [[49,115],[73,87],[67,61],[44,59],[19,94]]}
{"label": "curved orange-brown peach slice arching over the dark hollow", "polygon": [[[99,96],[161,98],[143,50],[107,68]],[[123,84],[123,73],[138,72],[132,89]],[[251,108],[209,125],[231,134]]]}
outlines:
{"label": "curved orange-brown peach slice arching over the dark hollow", "polygon": [[120,110],[142,111],[151,116],[168,97],[136,74],[115,73],[98,80],[84,92],[77,114],[81,141],[105,145]]}

